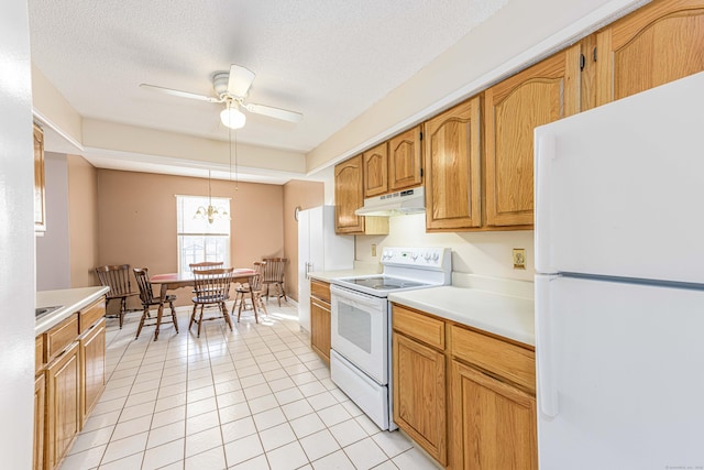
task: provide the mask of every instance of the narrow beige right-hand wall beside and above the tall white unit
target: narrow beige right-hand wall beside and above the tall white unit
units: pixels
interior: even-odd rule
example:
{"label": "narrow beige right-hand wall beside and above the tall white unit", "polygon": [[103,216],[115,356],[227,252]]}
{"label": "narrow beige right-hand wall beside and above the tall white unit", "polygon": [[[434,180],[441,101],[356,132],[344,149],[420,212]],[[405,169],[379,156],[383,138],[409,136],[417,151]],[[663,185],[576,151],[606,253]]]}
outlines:
{"label": "narrow beige right-hand wall beside and above the tall white unit", "polygon": [[294,218],[296,206],[301,209],[321,206],[324,200],[322,183],[293,179],[284,185],[284,252],[286,265],[286,294],[298,300],[298,222]]}

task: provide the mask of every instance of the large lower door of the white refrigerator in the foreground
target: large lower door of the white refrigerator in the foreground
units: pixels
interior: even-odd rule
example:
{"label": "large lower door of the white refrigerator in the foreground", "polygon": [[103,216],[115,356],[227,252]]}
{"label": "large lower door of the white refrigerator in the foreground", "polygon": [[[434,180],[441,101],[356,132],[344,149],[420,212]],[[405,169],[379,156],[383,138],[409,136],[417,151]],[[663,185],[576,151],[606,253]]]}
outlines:
{"label": "large lower door of the white refrigerator in the foreground", "polygon": [[540,468],[704,466],[704,292],[540,275],[536,294]]}

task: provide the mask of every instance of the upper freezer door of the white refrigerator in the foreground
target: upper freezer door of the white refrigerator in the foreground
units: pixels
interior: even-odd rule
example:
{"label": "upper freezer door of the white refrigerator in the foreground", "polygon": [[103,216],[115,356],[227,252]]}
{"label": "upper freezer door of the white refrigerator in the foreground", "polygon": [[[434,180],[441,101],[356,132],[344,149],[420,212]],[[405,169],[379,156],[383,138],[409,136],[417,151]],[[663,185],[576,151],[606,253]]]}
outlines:
{"label": "upper freezer door of the white refrigerator in the foreground", "polygon": [[704,73],[536,129],[536,270],[704,283]]}

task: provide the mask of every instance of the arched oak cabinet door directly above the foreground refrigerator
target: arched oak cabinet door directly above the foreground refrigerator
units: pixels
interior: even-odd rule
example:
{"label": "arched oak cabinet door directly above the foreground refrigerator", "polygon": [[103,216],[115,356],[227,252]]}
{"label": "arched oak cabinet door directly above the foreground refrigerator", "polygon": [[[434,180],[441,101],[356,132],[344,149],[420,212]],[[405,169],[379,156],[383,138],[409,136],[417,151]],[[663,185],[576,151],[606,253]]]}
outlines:
{"label": "arched oak cabinet door directly above the foreground refrigerator", "polygon": [[704,1],[653,1],[597,34],[600,105],[704,70]]}

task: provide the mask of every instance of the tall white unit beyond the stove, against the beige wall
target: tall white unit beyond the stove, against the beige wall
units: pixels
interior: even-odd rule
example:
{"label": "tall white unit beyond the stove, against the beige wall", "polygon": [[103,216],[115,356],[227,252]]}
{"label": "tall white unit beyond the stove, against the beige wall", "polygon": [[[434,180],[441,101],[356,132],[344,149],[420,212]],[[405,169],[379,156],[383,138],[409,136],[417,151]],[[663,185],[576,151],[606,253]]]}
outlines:
{"label": "tall white unit beyond the stove, against the beige wall", "polygon": [[298,323],[310,332],[310,280],[314,271],[354,267],[354,236],[334,233],[334,206],[298,212]]}

